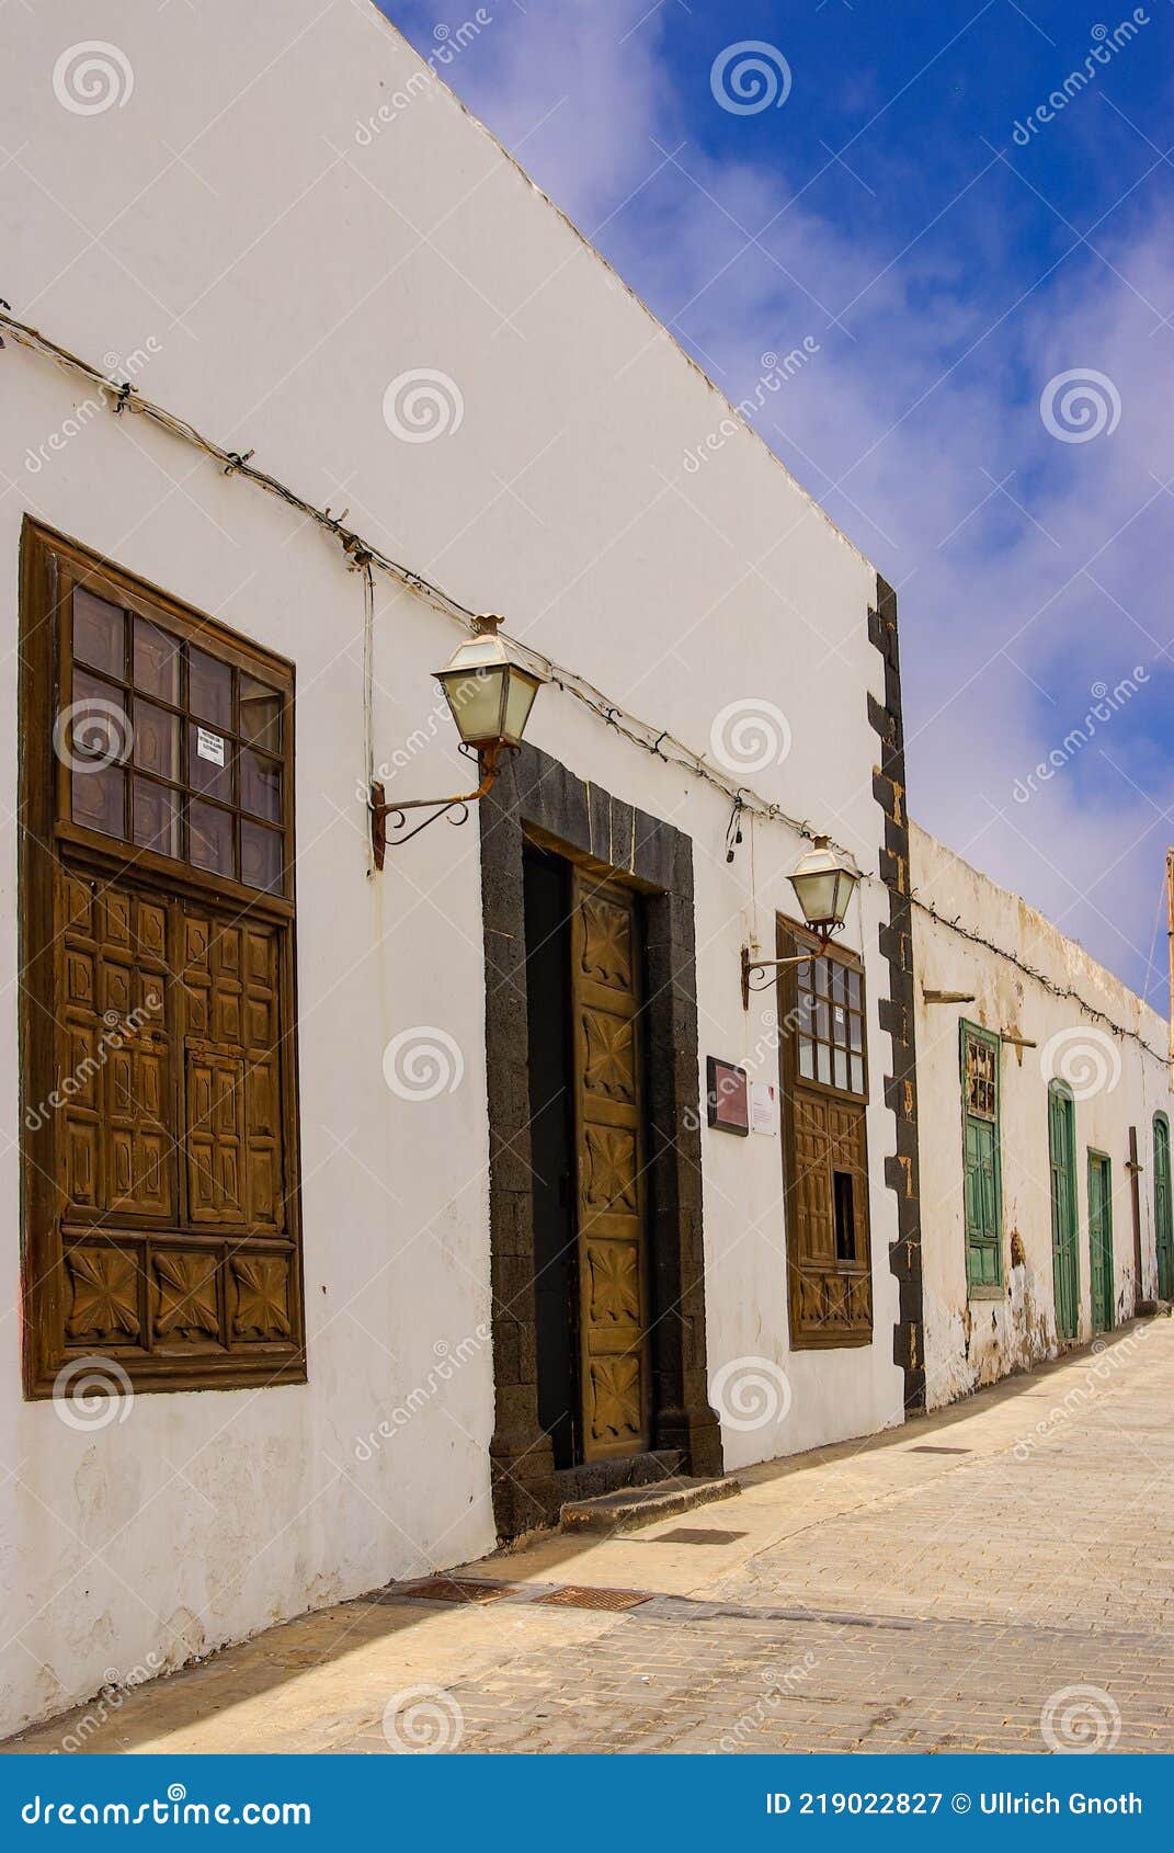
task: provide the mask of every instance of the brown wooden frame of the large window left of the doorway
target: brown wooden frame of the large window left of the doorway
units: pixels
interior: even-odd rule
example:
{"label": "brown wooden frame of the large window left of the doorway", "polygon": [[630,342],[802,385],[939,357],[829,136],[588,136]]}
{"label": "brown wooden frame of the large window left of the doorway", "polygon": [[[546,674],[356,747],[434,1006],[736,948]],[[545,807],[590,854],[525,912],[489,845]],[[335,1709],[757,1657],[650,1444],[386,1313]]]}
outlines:
{"label": "brown wooden frame of the large window left of the doorway", "polygon": [[[222,662],[250,676],[257,676],[283,695],[281,704],[281,891],[265,891],[235,880],[206,873],[133,841],[117,841],[102,832],[76,825],[69,804],[69,767],[54,750],[57,713],[72,695],[70,652],[63,645],[69,632],[72,586],[83,586],[120,610],[206,647]],[[128,626],[133,628],[133,626]],[[281,1382],[306,1382],[306,1327],[302,1279],[302,1221],[300,1221],[300,1151],[298,1151],[298,1075],[296,1075],[296,947],[294,947],[294,836],[293,836],[293,771],[294,771],[294,669],[285,658],[261,650],[248,639],[224,628],[215,619],[181,604],[169,593],[122,571],[41,523],[26,517],[20,543],[20,682],[19,725],[22,739],[19,782],[19,969],[20,969],[20,1288],[24,1308],[24,1393],[28,1399],[54,1395],[65,1366],[78,1356],[109,1358],[111,1386],[130,1380],[139,1392],[180,1392],[202,1388],[252,1388]],[[233,715],[233,719],[237,719]],[[181,734],[187,749],[185,723]],[[185,775],[187,780],[187,775]],[[130,775],[128,775],[130,788]],[[239,788],[237,788],[239,793]],[[130,808],[130,797],[128,797]],[[239,815],[239,799],[235,813]],[[174,1216],[146,1217],[124,1210],[78,1212],[67,1208],[65,1188],[65,1114],[44,1112],[44,1103],[61,1091],[61,1062],[57,1051],[57,886],[65,869],[87,884],[96,897],[115,891],[135,902],[159,906],[169,921],[183,915],[185,904],[206,906],[213,919],[228,928],[265,928],[272,943],[274,978],[274,1045],[272,1064],[280,1088],[278,1138],[281,1171],[276,1179],[281,1217],[274,1229],[261,1227],[243,1199],[241,1216],[230,1223],[196,1221],[185,1191],[176,1191]],[[174,912],[170,912],[174,910]],[[180,1117],[178,1082],[174,1075],[183,1060],[183,1049],[193,1038],[180,1025],[180,993],[185,965],[176,962],[176,939],[169,932],[161,954],[165,978],[165,1023],[159,1034],[167,1038],[167,1073],[170,1095],[161,1125],[169,1140],[167,1162],[183,1169],[187,1162],[185,1123]],[[128,969],[139,973],[141,958],[133,952]],[[48,1034],[46,1034],[48,1030]],[[241,1080],[252,1073],[248,1054],[241,1060]],[[74,1201],[76,1203],[76,1201]],[[119,1249],[133,1254],[141,1305],[148,1306],[152,1280],[148,1260],[157,1245],[193,1256],[215,1254],[217,1293],[220,1303],[220,1343],[209,1340],[202,1349],[187,1349],[159,1342],[161,1321],[148,1317],[137,1342],[72,1343],[67,1334],[67,1264],[63,1219],[81,1240],[93,1240],[107,1254]],[[154,1223],[154,1227],[152,1227]],[[76,1227],[74,1227],[76,1225]],[[222,1280],[237,1256],[237,1282],[248,1260],[263,1262],[276,1256],[283,1264],[287,1336],[250,1338],[241,1323],[230,1321]],[[263,1269],[257,1267],[257,1275]],[[281,1275],[281,1269],[278,1269]],[[272,1279],[272,1277],[270,1277]],[[244,1288],[237,1286],[237,1293]],[[265,1330],[259,1323],[256,1332]],[[233,1336],[233,1332],[237,1336]]]}

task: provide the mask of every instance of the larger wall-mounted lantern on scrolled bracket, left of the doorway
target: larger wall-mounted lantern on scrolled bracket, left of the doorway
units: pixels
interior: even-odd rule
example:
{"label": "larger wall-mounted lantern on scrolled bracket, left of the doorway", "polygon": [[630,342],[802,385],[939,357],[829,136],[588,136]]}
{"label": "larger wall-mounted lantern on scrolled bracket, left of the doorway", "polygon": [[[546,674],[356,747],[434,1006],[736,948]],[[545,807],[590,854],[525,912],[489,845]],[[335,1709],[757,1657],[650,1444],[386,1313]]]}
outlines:
{"label": "larger wall-mounted lantern on scrolled bracket, left of the doorway", "polygon": [[[387,849],[409,843],[437,817],[465,823],[468,806],[483,799],[493,786],[506,752],[517,752],[533,708],[533,697],[546,680],[528,662],[509,637],[498,636],[500,617],[476,617],[472,637],[461,643],[435,678],[461,736],[461,752],[478,762],[481,782],[476,791],[454,799],[402,799],[387,804],[383,786],[370,788],[370,843],[376,869],[383,867]],[[428,810],[431,815],[407,828],[409,810]],[[450,815],[452,813],[452,815]]]}

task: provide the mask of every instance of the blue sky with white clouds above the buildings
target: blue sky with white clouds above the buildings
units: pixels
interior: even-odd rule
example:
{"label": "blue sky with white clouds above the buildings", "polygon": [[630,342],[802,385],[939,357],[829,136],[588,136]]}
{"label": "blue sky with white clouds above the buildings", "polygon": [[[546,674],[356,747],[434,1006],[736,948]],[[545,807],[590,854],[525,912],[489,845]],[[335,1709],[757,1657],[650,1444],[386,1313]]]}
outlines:
{"label": "blue sky with white clouds above the buildings", "polygon": [[754,422],[898,587],[913,815],[1165,1010],[1172,0],[485,15],[441,74],[730,398],[807,337]]}

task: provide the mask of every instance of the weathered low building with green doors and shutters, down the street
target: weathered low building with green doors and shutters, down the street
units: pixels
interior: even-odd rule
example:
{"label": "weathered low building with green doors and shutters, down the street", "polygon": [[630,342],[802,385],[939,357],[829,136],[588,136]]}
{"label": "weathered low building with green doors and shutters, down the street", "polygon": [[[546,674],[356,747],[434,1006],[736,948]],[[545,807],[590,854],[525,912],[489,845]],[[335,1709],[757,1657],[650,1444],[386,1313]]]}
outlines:
{"label": "weathered low building with green doors and shutters, down the street", "polygon": [[926,1399],[1174,1297],[1168,1025],[911,826]]}

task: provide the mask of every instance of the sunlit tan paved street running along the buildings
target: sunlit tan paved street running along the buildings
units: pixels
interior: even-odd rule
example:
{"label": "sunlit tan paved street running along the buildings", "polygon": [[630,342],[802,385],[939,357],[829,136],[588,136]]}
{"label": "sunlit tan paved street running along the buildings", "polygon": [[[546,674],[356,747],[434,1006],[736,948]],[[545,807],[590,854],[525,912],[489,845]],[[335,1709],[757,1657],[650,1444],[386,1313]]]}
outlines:
{"label": "sunlit tan paved street running along the buildings", "polygon": [[1174,1751],[1172,1405],[1174,1325],[1135,1325],[685,1518],[500,1551],[454,1573],[480,1601],[376,1592],[4,1747]]}

